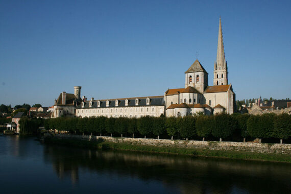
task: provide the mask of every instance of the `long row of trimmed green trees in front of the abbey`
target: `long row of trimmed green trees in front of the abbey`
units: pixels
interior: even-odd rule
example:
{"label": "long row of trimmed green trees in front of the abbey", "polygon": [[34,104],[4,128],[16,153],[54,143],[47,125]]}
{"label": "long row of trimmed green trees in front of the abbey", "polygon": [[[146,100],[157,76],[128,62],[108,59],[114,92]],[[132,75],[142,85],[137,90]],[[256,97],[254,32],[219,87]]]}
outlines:
{"label": "long row of trimmed green trees in front of the abbey", "polygon": [[230,138],[233,135],[246,140],[252,138],[279,138],[291,137],[291,115],[288,114],[264,114],[261,116],[241,114],[216,114],[185,117],[141,117],[141,118],[51,118],[45,119],[45,129],[68,131],[75,134],[100,135],[106,133],[132,134],[132,137],[142,135],[174,138]]}

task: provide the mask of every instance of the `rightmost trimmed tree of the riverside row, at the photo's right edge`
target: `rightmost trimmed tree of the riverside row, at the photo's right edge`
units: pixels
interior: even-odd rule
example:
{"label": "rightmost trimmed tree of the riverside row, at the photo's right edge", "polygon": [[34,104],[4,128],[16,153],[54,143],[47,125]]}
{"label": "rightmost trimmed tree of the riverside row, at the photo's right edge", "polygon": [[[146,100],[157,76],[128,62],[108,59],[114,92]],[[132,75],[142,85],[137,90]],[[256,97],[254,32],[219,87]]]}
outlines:
{"label": "rightmost trimmed tree of the riverside row, at the photo's right edge", "polygon": [[280,139],[280,143],[291,137],[291,115],[284,113],[275,116],[274,136]]}

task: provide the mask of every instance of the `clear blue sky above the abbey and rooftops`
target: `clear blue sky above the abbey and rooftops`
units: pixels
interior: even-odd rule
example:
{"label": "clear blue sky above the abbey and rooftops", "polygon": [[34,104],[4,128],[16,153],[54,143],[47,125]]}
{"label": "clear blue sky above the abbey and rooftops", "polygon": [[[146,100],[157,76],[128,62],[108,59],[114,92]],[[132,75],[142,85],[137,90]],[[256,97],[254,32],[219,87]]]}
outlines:
{"label": "clear blue sky above the abbey and rooftops", "polygon": [[236,99],[291,98],[291,1],[0,1],[0,104],[163,95],[198,59],[213,85],[219,17]]}

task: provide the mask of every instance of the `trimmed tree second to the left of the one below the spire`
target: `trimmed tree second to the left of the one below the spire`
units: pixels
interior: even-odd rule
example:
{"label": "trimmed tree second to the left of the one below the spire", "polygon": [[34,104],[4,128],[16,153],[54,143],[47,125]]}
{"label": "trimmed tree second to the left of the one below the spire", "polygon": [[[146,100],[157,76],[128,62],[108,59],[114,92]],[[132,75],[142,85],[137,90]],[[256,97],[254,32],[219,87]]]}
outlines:
{"label": "trimmed tree second to the left of the one below the spire", "polygon": [[195,127],[196,117],[184,116],[177,119],[177,127],[179,129],[180,135],[183,138],[188,138],[196,135]]}

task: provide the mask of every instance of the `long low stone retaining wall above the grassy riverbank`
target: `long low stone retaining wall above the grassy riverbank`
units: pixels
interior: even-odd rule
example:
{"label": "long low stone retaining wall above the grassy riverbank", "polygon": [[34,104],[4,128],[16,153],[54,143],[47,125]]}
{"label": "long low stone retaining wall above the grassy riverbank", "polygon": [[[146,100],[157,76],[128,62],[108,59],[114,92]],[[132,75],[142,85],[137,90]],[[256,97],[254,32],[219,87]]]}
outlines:
{"label": "long low stone retaining wall above the grassy riverbank", "polygon": [[291,154],[291,144],[279,143],[252,143],[230,141],[194,141],[194,140],[171,140],[171,139],[145,139],[145,138],[121,138],[91,135],[53,134],[54,138],[79,139],[95,141],[102,138],[107,142],[140,144],[145,146],[175,147],[175,148],[198,148],[209,150],[228,150],[257,153]]}

